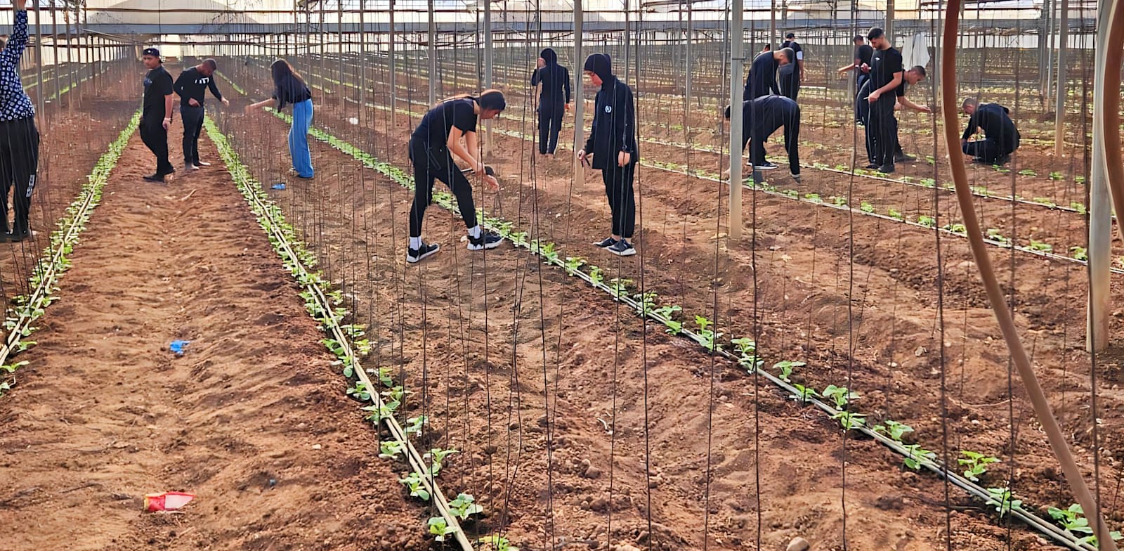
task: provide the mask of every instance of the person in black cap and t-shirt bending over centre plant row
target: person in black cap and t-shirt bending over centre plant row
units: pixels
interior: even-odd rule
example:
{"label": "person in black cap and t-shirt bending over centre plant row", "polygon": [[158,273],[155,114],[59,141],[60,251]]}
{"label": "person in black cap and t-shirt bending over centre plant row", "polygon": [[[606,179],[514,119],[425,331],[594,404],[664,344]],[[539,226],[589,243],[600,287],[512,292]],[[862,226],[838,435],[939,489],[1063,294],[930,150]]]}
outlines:
{"label": "person in black cap and t-shirt bending over centre plant row", "polygon": [[[498,190],[496,172],[477,159],[480,152],[477,123],[479,119],[496,118],[506,108],[507,101],[499,90],[484,90],[479,98],[457,96],[434,106],[414,128],[409,144],[409,157],[414,164],[414,204],[410,206],[410,243],[406,262],[418,262],[441,249],[422,241],[422,218],[426,207],[433,202],[434,179],[445,182],[456,197],[461,218],[469,228],[469,251],[496,249],[504,241],[496,232],[480,227],[472,201],[472,184],[453,163],[453,155],[468,163],[469,171],[481,174],[488,189]],[[461,144],[462,136],[464,145]]]}

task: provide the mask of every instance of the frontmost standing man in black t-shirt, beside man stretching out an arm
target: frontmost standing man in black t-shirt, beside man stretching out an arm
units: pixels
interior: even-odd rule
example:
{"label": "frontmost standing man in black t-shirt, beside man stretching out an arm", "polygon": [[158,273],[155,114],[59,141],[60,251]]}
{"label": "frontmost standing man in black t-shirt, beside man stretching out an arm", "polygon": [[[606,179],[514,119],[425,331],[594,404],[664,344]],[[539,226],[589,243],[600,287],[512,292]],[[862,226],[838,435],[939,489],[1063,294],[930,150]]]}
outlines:
{"label": "frontmost standing man in black t-shirt, beside man stretching out an arm", "polygon": [[874,54],[871,56],[870,82],[864,88],[870,103],[867,142],[872,162],[867,166],[883,173],[894,172],[894,152],[897,150],[898,120],[894,117],[896,90],[901,84],[901,53],[890,46],[882,29],[874,27],[867,34]]}

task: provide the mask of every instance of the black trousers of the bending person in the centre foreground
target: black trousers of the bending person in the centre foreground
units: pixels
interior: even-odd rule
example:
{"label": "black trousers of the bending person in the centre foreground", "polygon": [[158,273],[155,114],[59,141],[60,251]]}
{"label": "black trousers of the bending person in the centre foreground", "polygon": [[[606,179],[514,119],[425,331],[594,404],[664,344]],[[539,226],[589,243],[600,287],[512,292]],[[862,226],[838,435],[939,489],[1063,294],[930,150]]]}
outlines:
{"label": "black trousers of the bending person in the centre foreground", "polygon": [[422,236],[425,209],[433,202],[433,181],[441,180],[456,197],[465,227],[477,226],[477,207],[472,201],[472,184],[453,163],[447,147],[432,148],[410,139],[410,162],[414,164],[414,204],[410,205],[410,237]]}

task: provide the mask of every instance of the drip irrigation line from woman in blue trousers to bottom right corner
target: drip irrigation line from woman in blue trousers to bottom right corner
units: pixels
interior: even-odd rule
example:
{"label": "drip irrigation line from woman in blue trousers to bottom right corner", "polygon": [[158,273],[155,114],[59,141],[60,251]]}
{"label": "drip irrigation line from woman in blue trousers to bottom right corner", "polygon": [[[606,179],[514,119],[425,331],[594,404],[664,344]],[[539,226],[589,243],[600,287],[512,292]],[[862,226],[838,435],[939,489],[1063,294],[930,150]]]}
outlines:
{"label": "drip irrigation line from woman in blue trousers to bottom right corner", "polygon": [[[271,112],[274,112],[274,111],[271,111]],[[274,112],[274,115],[277,117],[281,118],[281,119],[284,119],[287,117],[283,114],[277,114],[277,112]],[[356,157],[356,160],[363,162],[369,168],[374,169],[374,170],[383,173],[384,175],[391,178],[396,183],[399,183],[401,186],[406,186],[405,181],[399,181],[399,179],[401,178],[400,173],[396,172],[396,170],[393,170],[393,168],[389,163],[380,163],[378,161],[374,161],[373,157],[371,157],[369,154],[361,152],[360,150],[355,148],[354,146],[352,146],[350,144],[342,143],[338,139],[335,139],[330,135],[328,135],[328,134],[326,134],[326,133],[324,133],[324,132],[321,132],[321,130],[319,130],[317,128],[312,128],[310,132],[312,133],[312,136],[316,137],[317,139],[320,139],[320,141],[324,141],[324,142],[328,142],[330,145],[333,145],[334,147],[341,150],[343,153],[350,154],[350,155]],[[436,202],[437,205],[442,206],[446,210],[455,211],[456,207],[455,207],[455,204],[452,200],[452,197],[451,196],[446,197],[446,196],[447,196],[447,193],[444,193],[444,192],[435,192],[434,193],[434,202]],[[497,220],[495,218],[492,218],[492,219],[489,220],[486,217],[484,225],[486,226],[490,226],[490,227],[496,228],[496,229],[499,229],[502,233],[505,231],[505,228],[496,226],[496,224],[498,222],[501,222],[501,220]],[[526,249],[532,254],[538,255],[540,258],[544,259],[545,263],[547,263],[550,265],[558,267],[558,268],[562,268],[565,271],[565,273],[568,273],[568,274],[570,274],[572,277],[577,277],[577,278],[586,281],[591,287],[595,287],[595,288],[601,290],[602,292],[608,293],[613,299],[618,300],[623,305],[626,305],[629,308],[632,308],[637,315],[640,315],[642,317],[646,317],[647,319],[651,319],[653,322],[656,322],[656,323],[660,323],[660,324],[663,324],[663,325],[668,325],[668,323],[671,322],[667,317],[664,317],[664,316],[662,316],[662,315],[660,315],[660,314],[658,314],[655,311],[652,311],[651,308],[646,308],[643,305],[643,301],[637,301],[633,297],[629,297],[626,292],[619,291],[619,290],[615,289],[614,287],[610,287],[609,284],[606,284],[604,280],[601,280],[601,279],[595,280],[590,274],[588,274],[588,273],[586,273],[586,272],[583,272],[581,270],[570,269],[569,267],[566,267],[565,261],[562,260],[562,259],[559,259],[558,255],[554,255],[554,256],[547,256],[547,255],[545,255],[543,253],[542,249],[537,244],[527,242],[526,240],[514,240],[514,238],[511,238],[511,235],[513,234],[509,233],[508,236],[505,236],[505,238],[507,238],[508,241],[510,241],[517,247]],[[696,332],[694,332],[691,329],[688,329],[686,327],[681,328],[679,334],[682,335],[683,337],[687,337],[687,338],[689,338],[691,341],[695,341],[696,343],[698,343],[699,345],[701,345],[705,350],[710,350],[710,349],[706,347],[707,346],[706,343],[708,342],[708,340],[705,336],[703,336],[703,335],[700,335],[700,334],[698,334],[698,333],[696,333]],[[738,359],[734,354],[732,354],[732,353],[729,353],[729,352],[727,352],[725,350],[715,350],[714,353],[716,355],[722,355],[723,358],[725,358],[725,359],[727,359],[727,360],[729,360],[729,361],[732,361],[734,363],[738,362]],[[787,382],[782,381],[781,379],[777,378],[776,376],[769,373],[768,371],[765,371],[763,369],[756,368],[754,371],[756,372],[758,376],[765,378],[765,380],[768,380],[769,382],[771,382],[774,386],[779,387],[785,392],[788,392],[788,394],[795,395],[795,396],[799,396],[799,390],[796,387],[791,386],[790,383],[787,383]],[[803,403],[807,404],[807,405],[810,405],[810,406],[815,407],[816,409],[819,409],[821,412],[826,413],[828,415],[834,415],[835,413],[837,413],[836,409],[834,408],[834,406],[827,405],[826,403],[821,401],[821,400],[818,400],[816,398],[809,398],[807,400],[803,400]],[[896,441],[894,441],[894,440],[891,440],[891,439],[889,439],[887,436],[883,436],[883,435],[881,435],[881,434],[879,434],[879,433],[874,432],[873,430],[870,430],[870,428],[868,428],[865,426],[853,427],[852,430],[853,431],[859,431],[860,433],[862,433],[862,434],[864,434],[864,435],[867,435],[867,436],[876,440],[877,442],[881,443],[882,445],[885,445],[886,448],[890,449],[891,451],[898,453],[899,455],[903,455],[903,457],[906,457],[906,458],[913,458],[913,459],[917,460],[917,462],[918,462],[919,466],[925,467],[926,470],[928,470],[928,471],[937,475],[939,477],[946,478],[951,485],[957,486],[958,488],[961,488],[962,490],[964,490],[969,495],[971,495],[973,497],[977,497],[979,499],[982,499],[985,502],[989,502],[991,499],[990,495],[988,494],[988,491],[985,488],[980,487],[979,485],[977,485],[977,484],[975,484],[975,482],[966,479],[964,477],[962,477],[962,476],[960,476],[960,475],[958,475],[955,472],[952,472],[952,471],[948,470],[948,468],[944,467],[941,462],[937,462],[937,461],[931,460],[931,459],[926,459],[926,458],[918,458],[916,453],[914,453],[910,450],[908,450],[907,448],[905,448],[901,443],[896,442]],[[1060,529],[1059,526],[1052,524],[1051,522],[1045,521],[1045,520],[1039,517],[1037,515],[1035,515],[1031,511],[1027,511],[1027,509],[1022,508],[1022,507],[1012,507],[1008,514],[1013,515],[1014,517],[1016,517],[1019,521],[1024,522],[1027,526],[1030,526],[1030,527],[1039,531],[1043,535],[1046,535],[1046,536],[1051,538],[1052,540],[1057,541],[1058,543],[1060,543],[1060,544],[1062,544],[1062,545],[1064,545],[1064,547],[1067,547],[1069,549],[1072,549],[1075,551],[1096,551],[1094,548],[1091,548],[1091,547],[1089,547],[1087,544],[1080,543],[1079,539],[1075,538],[1072,534],[1063,531],[1062,529]]]}

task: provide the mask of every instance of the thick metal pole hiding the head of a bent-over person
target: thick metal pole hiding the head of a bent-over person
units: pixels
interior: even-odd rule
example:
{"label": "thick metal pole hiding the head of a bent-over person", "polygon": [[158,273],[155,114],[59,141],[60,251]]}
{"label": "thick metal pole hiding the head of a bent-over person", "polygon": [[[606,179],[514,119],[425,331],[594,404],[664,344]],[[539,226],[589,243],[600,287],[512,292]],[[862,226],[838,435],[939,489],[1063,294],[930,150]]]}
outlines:
{"label": "thick metal pole hiding the head of a bent-over person", "polygon": [[749,128],[742,128],[742,73],[745,69],[742,19],[744,0],[734,0],[731,11],[733,12],[729,28],[729,242],[733,244],[742,238],[742,132],[749,132]]}

